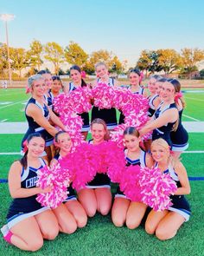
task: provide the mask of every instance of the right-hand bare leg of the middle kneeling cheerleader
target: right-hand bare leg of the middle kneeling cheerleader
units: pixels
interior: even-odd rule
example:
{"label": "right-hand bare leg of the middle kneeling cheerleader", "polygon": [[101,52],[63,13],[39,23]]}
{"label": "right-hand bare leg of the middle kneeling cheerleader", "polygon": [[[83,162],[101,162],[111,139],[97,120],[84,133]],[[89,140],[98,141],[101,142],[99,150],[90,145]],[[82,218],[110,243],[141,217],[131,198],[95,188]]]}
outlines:
{"label": "right-hand bare leg of the middle kneeling cheerleader", "polygon": [[109,187],[95,189],[97,199],[97,210],[102,215],[107,215],[112,207],[112,192]]}

